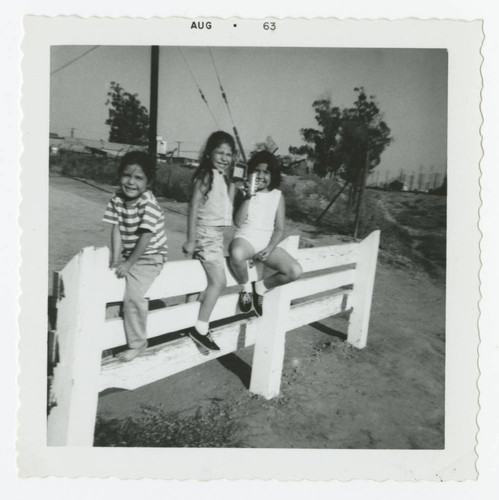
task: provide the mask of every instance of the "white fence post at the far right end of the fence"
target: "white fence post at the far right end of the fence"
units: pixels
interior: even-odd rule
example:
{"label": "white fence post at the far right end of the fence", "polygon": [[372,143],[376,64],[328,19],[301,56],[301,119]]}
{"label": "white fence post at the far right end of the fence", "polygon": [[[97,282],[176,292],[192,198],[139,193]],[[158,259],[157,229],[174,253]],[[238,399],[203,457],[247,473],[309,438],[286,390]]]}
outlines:
{"label": "white fence post at the far right end of the fence", "polygon": [[353,308],[348,324],[347,342],[359,349],[366,346],[374,275],[378,260],[379,231],[373,231],[359,243],[355,280],[351,298]]}

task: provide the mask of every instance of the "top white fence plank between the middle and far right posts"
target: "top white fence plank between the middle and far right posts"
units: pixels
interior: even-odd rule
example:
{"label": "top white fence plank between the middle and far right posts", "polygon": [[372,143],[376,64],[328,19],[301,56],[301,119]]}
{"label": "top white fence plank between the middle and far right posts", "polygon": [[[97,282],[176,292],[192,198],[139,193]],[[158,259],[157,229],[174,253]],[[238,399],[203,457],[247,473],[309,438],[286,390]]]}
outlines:
{"label": "top white fence plank between the middle and far right posts", "polygon": [[298,251],[298,262],[303,272],[317,271],[330,267],[355,264],[358,243],[344,243],[325,247],[302,248]]}

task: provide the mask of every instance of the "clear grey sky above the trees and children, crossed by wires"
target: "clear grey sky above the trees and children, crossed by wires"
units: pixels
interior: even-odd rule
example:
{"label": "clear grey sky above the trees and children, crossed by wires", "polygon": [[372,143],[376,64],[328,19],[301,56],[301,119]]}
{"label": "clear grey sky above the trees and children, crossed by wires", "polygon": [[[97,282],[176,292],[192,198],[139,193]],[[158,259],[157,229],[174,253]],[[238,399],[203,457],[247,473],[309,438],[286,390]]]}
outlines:
{"label": "clear grey sky above the trees and children, crossed by wires", "polygon": [[[149,108],[150,47],[54,46],[50,130],[108,139],[106,94],[111,81]],[[376,172],[384,178],[444,173],[447,163],[447,52],[443,49],[213,47],[234,122],[247,152],[271,136],[278,153],[303,144],[300,129],[316,127],[312,103],[329,97],[350,107],[354,88],[375,96],[393,142]],[[76,60],[75,60],[76,59]],[[69,63],[69,64],[68,64]],[[63,67],[67,64],[66,67]],[[62,69],[61,69],[62,68]],[[197,85],[208,100],[210,114]],[[158,135],[168,149],[196,157],[208,135],[232,131],[215,66],[206,47],[161,47]]]}

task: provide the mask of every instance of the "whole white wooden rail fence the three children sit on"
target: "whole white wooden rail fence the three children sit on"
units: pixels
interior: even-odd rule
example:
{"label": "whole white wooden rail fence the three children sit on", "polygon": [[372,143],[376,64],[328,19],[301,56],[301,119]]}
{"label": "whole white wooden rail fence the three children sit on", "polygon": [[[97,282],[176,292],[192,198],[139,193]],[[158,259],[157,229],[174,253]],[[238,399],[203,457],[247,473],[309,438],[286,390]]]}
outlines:
{"label": "whole white wooden rail fence the three children sit on", "polygon": [[[279,394],[286,332],[341,312],[351,310],[347,341],[364,347],[378,245],[379,231],[360,243],[301,250],[298,236],[291,236],[280,246],[298,260],[304,276],[268,292],[261,318],[245,317],[216,328],[213,336],[219,352],[203,355],[188,337],[177,335],[129,363],[102,360],[102,351],[126,343],[122,319],[105,319],[106,304],[123,299],[124,280],[108,269],[107,248],[84,248],[58,273],[59,363],[54,367],[50,392],[48,444],[92,446],[98,395],[104,389],[135,389],[253,344],[250,391],[270,399]],[[256,266],[250,278],[255,280],[261,273],[262,268]],[[235,285],[228,271],[226,274],[228,287]],[[199,262],[167,262],[147,296],[165,299],[205,287]],[[237,293],[220,297],[211,321],[237,315],[237,299]],[[191,302],[151,311],[148,338],[193,326],[198,310],[199,302]]]}

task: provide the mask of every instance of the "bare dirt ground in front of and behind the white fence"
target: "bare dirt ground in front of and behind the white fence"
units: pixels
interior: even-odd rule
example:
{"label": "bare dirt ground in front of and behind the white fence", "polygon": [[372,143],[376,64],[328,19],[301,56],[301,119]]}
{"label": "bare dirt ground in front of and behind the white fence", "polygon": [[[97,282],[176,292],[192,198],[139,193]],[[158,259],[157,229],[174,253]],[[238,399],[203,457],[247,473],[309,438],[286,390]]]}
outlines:
{"label": "bare dirt ground in front of and behind the white fence", "polygon": [[[51,176],[49,272],[84,246],[107,245],[109,229],[100,220],[109,196]],[[186,205],[166,200],[162,205],[169,258],[180,259]],[[287,230],[307,245],[337,241],[305,224],[290,222]],[[199,435],[204,427],[204,435],[213,437],[187,440],[187,446],[443,448],[445,284],[378,264],[365,349],[345,342],[346,327],[347,318],[329,318],[289,332],[281,393],[270,401],[248,391],[252,348],[134,391],[105,391],[96,444],[133,446],[126,436],[113,442],[103,435],[108,424],[126,418],[140,422],[153,414],[180,426],[194,421]]]}

